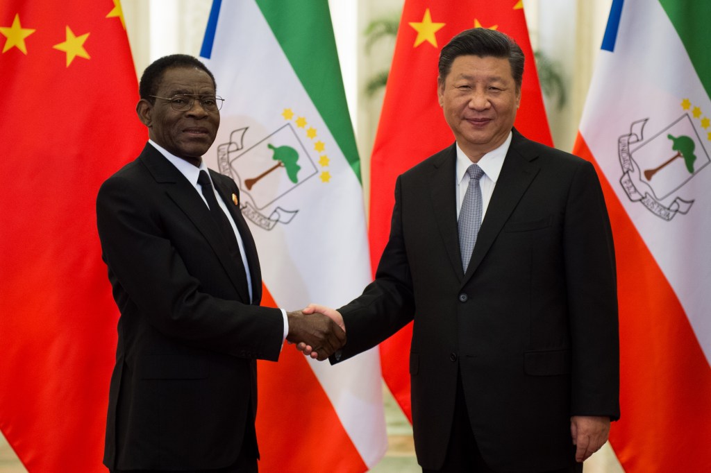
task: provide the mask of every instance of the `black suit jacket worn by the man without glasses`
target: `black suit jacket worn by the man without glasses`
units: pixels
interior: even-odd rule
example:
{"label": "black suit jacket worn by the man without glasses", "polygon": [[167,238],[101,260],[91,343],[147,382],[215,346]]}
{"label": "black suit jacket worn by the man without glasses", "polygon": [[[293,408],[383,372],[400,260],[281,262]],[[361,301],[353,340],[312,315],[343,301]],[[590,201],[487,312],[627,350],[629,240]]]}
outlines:
{"label": "black suit jacket worn by the man without glasses", "polygon": [[439,469],[457,376],[484,460],[501,471],[574,462],[571,415],[619,417],[616,274],[599,180],[587,161],[517,131],[466,274],[454,145],[400,175],[375,281],[341,308],[341,359],[415,320],[417,458]]}

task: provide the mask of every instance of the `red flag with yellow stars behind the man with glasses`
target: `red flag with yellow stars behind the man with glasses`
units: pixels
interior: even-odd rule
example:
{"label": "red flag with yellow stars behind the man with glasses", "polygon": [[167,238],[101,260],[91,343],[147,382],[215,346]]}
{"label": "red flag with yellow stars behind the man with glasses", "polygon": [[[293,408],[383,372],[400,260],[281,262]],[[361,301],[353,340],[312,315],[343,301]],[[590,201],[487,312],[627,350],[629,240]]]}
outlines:
{"label": "red flag with yellow stars behind the man with glasses", "polygon": [[118,311],[95,200],[146,139],[119,0],[4,0],[0,48],[0,429],[30,472],[105,471]]}

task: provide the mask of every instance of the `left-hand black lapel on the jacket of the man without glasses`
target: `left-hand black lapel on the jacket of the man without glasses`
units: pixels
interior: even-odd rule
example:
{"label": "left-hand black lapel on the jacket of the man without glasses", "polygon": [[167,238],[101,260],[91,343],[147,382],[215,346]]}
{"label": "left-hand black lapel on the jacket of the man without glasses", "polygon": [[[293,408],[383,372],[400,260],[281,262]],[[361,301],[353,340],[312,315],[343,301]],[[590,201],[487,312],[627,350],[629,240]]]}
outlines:
{"label": "left-hand black lapel on the jacket of the man without glasses", "polygon": [[453,144],[434,160],[432,176],[432,205],[437,219],[437,229],[447,249],[452,270],[461,279],[461,252],[459,251],[459,229],[456,225],[456,146]]}

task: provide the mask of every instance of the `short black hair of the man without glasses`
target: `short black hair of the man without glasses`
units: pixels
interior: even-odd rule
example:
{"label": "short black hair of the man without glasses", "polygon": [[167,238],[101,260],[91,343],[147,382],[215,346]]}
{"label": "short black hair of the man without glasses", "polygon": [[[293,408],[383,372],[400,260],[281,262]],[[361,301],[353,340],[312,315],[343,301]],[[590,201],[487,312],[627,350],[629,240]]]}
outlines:
{"label": "short black hair of the man without glasses", "polygon": [[437,82],[440,84],[444,82],[451,71],[452,62],[459,56],[465,55],[479,56],[480,58],[487,56],[508,58],[516,89],[521,89],[525,58],[521,48],[510,36],[488,28],[471,28],[454,36],[439,53]]}

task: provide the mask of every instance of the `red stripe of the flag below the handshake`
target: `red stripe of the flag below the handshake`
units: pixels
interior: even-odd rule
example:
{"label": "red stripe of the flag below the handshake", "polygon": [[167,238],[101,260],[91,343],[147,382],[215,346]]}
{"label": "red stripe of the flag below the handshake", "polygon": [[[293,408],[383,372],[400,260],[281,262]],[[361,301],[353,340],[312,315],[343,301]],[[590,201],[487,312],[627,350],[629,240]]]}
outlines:
{"label": "red stripe of the flag below the handshake", "polygon": [[[279,307],[265,286],[262,290],[262,305]],[[260,470],[311,473],[368,470],[301,352],[286,344],[277,363],[257,361],[257,372]],[[284,434],[287,431],[289,435]],[[338,449],[329,448],[333,445],[338,445]]]}

